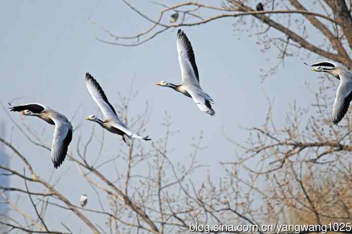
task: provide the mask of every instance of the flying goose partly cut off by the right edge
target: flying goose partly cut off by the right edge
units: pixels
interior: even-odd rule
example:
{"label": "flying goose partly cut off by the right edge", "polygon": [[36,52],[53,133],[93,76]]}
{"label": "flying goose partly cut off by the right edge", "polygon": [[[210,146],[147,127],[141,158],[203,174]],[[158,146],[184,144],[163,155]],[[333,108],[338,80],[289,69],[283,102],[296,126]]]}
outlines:
{"label": "flying goose partly cut off by the right edge", "polygon": [[337,125],[345,116],[349,102],[352,100],[352,72],[332,62],[313,63],[310,66],[314,66],[312,69],[314,72],[329,73],[340,80],[332,113],[332,122]]}

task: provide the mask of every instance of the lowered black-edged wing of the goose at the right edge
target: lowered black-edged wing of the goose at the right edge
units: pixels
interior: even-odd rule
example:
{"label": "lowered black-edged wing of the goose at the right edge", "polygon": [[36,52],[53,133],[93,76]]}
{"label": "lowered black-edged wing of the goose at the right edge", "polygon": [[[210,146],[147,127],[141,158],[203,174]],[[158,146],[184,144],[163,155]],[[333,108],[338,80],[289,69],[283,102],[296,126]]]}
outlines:
{"label": "lowered black-edged wing of the goose at the right edge", "polygon": [[352,83],[341,79],[333,106],[332,121],[334,124],[337,125],[345,116],[350,101],[352,101]]}

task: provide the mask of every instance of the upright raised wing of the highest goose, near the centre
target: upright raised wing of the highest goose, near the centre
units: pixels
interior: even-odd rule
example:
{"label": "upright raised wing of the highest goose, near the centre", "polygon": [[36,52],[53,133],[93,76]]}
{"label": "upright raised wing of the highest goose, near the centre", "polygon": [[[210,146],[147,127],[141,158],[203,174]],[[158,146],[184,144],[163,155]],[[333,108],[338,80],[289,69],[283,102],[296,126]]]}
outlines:
{"label": "upright raised wing of the highest goose, near the centre", "polygon": [[199,84],[198,68],[195,64],[192,45],[181,29],[177,32],[177,52],[179,54],[182,82]]}

